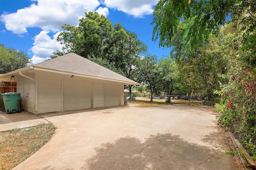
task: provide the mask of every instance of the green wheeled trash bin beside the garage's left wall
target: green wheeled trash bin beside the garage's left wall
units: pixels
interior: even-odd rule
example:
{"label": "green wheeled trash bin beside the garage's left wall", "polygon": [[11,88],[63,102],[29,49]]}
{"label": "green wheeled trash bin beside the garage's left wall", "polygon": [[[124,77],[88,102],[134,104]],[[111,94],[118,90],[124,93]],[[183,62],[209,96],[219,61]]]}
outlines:
{"label": "green wheeled trash bin beside the garage's left wall", "polygon": [[3,93],[1,95],[7,114],[20,113],[20,94],[21,93]]}

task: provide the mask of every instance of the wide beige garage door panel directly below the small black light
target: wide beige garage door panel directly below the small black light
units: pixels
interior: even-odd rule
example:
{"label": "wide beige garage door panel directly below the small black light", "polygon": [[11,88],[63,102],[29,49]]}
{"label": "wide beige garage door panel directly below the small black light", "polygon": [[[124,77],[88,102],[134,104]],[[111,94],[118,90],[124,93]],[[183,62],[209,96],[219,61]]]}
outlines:
{"label": "wide beige garage door panel directly below the small black light", "polygon": [[88,81],[63,81],[63,111],[92,107],[92,83]]}

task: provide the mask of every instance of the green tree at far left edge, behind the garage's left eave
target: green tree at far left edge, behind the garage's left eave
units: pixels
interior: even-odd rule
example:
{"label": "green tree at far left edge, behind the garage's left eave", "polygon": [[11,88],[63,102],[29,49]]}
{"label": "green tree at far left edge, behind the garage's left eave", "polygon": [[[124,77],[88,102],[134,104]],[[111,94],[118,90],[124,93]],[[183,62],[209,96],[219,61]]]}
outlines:
{"label": "green tree at far left edge, behind the garage's left eave", "polygon": [[6,48],[4,44],[0,44],[0,74],[9,73],[29,65],[32,65],[32,60],[28,54],[14,48]]}

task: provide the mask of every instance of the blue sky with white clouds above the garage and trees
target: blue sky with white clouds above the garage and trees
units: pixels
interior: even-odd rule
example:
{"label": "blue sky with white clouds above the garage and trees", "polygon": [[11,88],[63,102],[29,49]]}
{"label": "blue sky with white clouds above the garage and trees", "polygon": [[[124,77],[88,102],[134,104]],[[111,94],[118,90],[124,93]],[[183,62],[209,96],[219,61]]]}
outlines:
{"label": "blue sky with white clouds above the garage and trees", "polygon": [[22,50],[42,62],[61,49],[56,41],[61,26],[77,26],[84,12],[97,11],[112,24],[120,22],[148,45],[148,52],[161,58],[170,49],[152,42],[152,12],[158,0],[0,0],[0,43]]}

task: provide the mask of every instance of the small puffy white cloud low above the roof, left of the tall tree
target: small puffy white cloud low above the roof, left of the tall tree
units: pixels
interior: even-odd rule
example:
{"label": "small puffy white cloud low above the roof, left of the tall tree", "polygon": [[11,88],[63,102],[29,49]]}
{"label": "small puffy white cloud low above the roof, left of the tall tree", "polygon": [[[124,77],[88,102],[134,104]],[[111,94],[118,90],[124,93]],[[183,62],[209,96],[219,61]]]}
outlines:
{"label": "small puffy white cloud low above the roof, left of the tall tree", "polygon": [[48,36],[48,33],[49,31],[41,31],[40,34],[34,37],[34,46],[30,49],[34,53],[32,57],[34,64],[49,59],[52,52],[61,50],[63,47],[56,40],[61,32],[54,34],[52,39]]}

